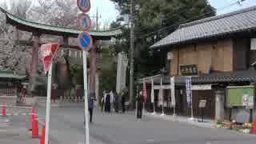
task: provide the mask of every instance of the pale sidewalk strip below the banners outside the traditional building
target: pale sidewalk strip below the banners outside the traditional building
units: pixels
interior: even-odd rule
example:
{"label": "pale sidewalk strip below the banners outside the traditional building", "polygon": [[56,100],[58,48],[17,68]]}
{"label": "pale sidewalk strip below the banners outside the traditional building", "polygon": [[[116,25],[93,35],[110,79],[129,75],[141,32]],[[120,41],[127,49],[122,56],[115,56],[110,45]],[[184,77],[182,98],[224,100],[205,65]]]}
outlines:
{"label": "pale sidewalk strip below the banners outside the traditional building", "polygon": [[204,122],[198,122],[201,121],[200,118],[194,118],[194,121],[190,120],[189,117],[184,117],[184,116],[173,116],[173,115],[161,115],[161,114],[152,114],[152,113],[148,113],[146,112],[146,116],[150,117],[150,118],[160,118],[163,120],[167,120],[167,121],[171,121],[171,122],[182,122],[182,123],[186,123],[186,124],[190,124],[190,125],[194,125],[194,126],[199,126],[199,127],[206,127],[206,128],[214,128],[214,120],[210,120],[210,119],[205,119]]}

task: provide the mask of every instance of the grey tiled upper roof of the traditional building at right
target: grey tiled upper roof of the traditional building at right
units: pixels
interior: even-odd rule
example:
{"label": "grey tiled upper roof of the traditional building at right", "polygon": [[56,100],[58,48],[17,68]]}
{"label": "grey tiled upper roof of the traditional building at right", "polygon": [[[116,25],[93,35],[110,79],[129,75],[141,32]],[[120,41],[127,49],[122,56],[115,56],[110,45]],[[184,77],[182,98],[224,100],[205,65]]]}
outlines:
{"label": "grey tiled upper roof of the traditional building at right", "polygon": [[193,40],[214,38],[220,35],[236,34],[256,29],[256,6],[234,11],[179,26],[174,33],[154,43],[150,48],[171,46]]}

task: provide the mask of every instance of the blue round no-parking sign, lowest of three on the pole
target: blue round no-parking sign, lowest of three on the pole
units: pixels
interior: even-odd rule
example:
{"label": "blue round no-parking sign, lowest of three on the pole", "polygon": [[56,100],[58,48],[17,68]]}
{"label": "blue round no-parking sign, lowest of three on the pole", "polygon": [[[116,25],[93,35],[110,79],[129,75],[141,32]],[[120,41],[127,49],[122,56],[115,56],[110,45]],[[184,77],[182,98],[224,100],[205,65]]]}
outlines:
{"label": "blue round no-parking sign, lowest of three on the pole", "polygon": [[82,50],[89,50],[92,46],[92,41],[93,39],[86,31],[78,35],[78,44],[82,48]]}

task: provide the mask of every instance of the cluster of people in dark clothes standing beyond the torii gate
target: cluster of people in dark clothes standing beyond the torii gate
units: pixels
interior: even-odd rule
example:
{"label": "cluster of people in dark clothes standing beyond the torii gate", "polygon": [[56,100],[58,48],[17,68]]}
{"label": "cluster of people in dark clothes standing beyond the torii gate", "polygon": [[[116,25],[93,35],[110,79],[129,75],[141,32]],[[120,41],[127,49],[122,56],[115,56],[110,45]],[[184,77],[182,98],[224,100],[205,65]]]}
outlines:
{"label": "cluster of people in dark clothes standing beyond the torii gate", "polygon": [[126,94],[121,94],[121,99],[119,98],[117,93],[113,93],[110,91],[110,93],[106,93],[106,90],[103,91],[102,95],[102,111],[105,111],[107,113],[110,113],[114,108],[114,111],[116,113],[119,112],[119,104],[121,103],[122,106],[122,113],[126,112]]}

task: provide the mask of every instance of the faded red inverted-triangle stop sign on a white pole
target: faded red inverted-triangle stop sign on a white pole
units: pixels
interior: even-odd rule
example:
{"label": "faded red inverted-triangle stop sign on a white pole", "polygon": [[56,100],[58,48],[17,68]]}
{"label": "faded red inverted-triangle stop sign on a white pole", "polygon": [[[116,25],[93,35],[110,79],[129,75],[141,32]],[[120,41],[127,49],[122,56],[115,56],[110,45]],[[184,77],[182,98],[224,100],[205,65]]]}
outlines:
{"label": "faded red inverted-triangle stop sign on a white pole", "polygon": [[54,59],[54,56],[57,54],[58,51],[58,43],[50,43],[50,44],[44,44],[41,46],[41,55],[42,55],[42,63],[43,63],[43,69],[45,71],[45,74],[50,68],[50,63]]}

